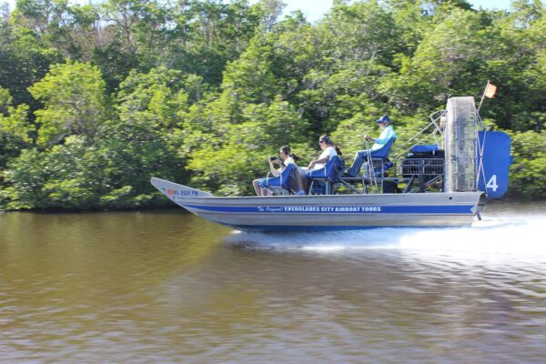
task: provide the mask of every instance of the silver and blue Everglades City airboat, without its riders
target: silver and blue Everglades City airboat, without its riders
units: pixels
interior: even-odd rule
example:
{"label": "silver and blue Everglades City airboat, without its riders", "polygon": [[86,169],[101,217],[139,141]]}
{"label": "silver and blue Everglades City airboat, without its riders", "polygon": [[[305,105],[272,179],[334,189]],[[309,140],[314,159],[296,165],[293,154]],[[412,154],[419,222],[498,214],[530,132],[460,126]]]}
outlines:
{"label": "silver and blue Everglades City airboat, without its riders", "polygon": [[288,167],[267,178],[268,197],[215,197],[157,177],[150,182],[189,212],[244,231],[469,227],[508,189],[510,136],[486,130],[471,96],[451,97],[391,152],[394,145],[369,153],[359,177],[344,177],[343,160],[331,157],[308,173],[305,196],[291,191],[297,172]]}

